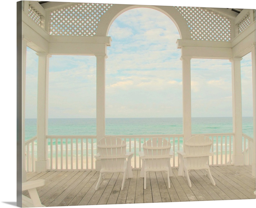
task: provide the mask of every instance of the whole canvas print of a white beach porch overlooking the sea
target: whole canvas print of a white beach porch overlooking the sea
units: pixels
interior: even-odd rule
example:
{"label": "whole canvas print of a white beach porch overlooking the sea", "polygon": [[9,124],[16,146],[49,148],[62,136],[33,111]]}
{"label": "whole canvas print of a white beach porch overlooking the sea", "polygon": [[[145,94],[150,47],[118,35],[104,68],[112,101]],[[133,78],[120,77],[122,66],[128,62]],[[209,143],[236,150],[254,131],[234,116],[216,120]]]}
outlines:
{"label": "whole canvas print of a white beach porch overlooking the sea", "polygon": [[19,1],[17,52],[18,206],[255,199],[255,8]]}

